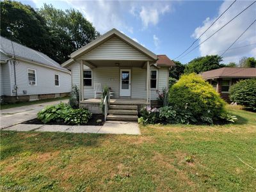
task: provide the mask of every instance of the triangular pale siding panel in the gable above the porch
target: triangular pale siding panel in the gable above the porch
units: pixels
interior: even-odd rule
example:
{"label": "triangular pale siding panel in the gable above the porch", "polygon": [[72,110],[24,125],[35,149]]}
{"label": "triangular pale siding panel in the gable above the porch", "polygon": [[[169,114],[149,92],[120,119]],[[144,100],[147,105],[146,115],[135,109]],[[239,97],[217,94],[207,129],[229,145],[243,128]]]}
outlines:
{"label": "triangular pale siding panel in the gable above the porch", "polygon": [[113,37],[99,47],[87,52],[79,60],[134,60],[151,61],[145,54],[126,44],[120,38]]}

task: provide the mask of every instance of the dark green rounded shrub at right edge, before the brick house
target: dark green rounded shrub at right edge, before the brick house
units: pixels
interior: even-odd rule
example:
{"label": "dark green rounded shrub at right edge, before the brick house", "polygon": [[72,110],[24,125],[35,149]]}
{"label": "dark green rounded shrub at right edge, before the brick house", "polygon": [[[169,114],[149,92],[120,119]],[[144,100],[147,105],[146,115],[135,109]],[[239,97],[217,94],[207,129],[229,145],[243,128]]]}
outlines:
{"label": "dark green rounded shrub at right edge, before the brick house", "polygon": [[243,105],[246,109],[256,111],[256,79],[237,82],[230,88],[230,100]]}

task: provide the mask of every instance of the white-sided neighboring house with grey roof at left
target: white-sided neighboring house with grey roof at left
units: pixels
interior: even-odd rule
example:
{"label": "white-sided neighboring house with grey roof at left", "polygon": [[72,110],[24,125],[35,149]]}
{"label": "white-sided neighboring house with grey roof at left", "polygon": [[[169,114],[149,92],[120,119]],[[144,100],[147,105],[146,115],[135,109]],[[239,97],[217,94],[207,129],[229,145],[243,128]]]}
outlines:
{"label": "white-sided neighboring house with grey roof at left", "polygon": [[1,36],[1,99],[6,102],[63,97],[71,74],[42,52]]}

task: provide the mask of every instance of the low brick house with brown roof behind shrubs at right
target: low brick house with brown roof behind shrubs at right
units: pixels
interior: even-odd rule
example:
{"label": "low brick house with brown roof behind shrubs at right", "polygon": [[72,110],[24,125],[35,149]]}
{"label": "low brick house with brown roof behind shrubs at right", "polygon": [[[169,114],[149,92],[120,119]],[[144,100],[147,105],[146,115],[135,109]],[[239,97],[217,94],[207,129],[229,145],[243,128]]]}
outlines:
{"label": "low brick house with brown roof behind shrubs at right", "polygon": [[230,102],[229,88],[241,79],[256,78],[256,68],[223,67],[202,72],[203,79],[212,84],[221,98]]}

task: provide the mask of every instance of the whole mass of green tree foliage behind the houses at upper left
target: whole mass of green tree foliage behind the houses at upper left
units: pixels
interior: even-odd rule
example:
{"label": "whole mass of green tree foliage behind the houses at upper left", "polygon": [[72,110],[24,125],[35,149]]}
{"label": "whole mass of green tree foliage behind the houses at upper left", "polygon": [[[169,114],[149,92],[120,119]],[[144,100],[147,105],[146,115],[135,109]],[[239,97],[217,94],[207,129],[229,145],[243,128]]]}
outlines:
{"label": "whole mass of green tree foliage behind the houses at upper left", "polygon": [[17,1],[0,1],[1,35],[63,63],[68,55],[99,36],[82,13],[44,4],[40,10]]}

